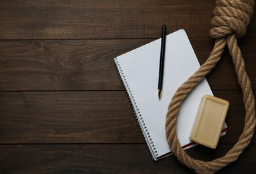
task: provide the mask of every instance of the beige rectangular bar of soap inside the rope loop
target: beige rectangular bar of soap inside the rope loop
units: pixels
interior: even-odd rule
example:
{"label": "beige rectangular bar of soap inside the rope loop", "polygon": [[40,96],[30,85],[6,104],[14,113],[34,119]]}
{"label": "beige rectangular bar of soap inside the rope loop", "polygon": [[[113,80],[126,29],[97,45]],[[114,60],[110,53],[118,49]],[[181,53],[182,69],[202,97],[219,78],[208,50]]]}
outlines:
{"label": "beige rectangular bar of soap inside the rope loop", "polygon": [[190,140],[215,149],[228,109],[228,101],[214,96],[203,96]]}

